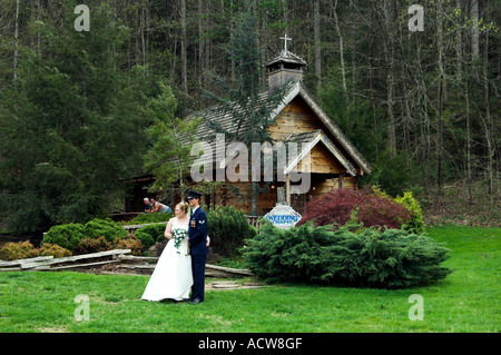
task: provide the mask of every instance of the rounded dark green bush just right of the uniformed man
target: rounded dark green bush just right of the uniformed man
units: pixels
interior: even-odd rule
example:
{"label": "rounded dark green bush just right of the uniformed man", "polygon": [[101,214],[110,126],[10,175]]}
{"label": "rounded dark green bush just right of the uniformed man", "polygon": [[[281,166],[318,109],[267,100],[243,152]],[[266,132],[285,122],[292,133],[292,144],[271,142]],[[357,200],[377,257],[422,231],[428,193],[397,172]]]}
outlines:
{"label": "rounded dark green bush just right of the uniformed man", "polygon": [[243,210],[233,206],[220,206],[207,213],[210,246],[215,254],[234,256],[244,240],[256,235]]}

